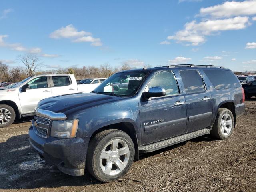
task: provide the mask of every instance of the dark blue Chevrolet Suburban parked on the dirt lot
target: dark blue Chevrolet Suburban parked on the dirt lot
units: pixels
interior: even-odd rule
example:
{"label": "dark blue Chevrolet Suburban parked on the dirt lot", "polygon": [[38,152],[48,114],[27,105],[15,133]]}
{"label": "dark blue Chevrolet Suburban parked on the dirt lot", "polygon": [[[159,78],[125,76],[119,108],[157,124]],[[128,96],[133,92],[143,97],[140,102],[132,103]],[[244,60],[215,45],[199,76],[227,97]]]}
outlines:
{"label": "dark blue Chevrolet Suburban parked on the dirt lot", "polygon": [[229,138],[244,110],[244,90],[229,69],[189,64],[128,70],[91,93],[41,100],[29,141],[60,171],[79,176],[88,170],[111,182],[139,153],[205,134]]}

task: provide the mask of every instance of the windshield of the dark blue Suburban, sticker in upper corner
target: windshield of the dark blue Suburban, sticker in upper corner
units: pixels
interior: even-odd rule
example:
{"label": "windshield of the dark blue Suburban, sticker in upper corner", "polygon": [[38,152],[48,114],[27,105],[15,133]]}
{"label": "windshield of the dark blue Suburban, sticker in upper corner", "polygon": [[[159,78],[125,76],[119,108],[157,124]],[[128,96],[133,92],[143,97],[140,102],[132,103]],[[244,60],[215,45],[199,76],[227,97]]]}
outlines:
{"label": "windshield of the dark blue Suburban, sticker in upper corner", "polygon": [[100,84],[94,93],[111,94],[113,96],[133,96],[142,84],[147,73],[116,73]]}

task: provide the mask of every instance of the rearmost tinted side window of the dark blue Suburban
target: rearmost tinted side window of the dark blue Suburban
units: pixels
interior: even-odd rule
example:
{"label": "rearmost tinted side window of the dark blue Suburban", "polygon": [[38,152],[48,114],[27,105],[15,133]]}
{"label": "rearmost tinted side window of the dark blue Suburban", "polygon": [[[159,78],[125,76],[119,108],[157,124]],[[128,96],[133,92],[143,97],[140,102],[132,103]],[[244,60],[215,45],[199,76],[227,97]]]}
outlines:
{"label": "rearmost tinted side window of the dark blue Suburban", "polygon": [[230,70],[204,70],[206,76],[216,89],[240,87],[240,82]]}

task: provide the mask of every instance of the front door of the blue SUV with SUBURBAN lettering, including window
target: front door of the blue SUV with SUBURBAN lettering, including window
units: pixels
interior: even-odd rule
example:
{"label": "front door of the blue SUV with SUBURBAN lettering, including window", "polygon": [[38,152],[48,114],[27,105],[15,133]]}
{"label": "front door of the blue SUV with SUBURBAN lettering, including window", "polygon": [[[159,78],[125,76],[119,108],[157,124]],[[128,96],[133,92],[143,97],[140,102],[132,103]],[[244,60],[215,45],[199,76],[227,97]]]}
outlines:
{"label": "front door of the blue SUV with SUBURBAN lettering, including window", "polygon": [[155,74],[144,91],[162,87],[166,96],[140,100],[142,145],[184,134],[186,129],[185,98],[172,71]]}

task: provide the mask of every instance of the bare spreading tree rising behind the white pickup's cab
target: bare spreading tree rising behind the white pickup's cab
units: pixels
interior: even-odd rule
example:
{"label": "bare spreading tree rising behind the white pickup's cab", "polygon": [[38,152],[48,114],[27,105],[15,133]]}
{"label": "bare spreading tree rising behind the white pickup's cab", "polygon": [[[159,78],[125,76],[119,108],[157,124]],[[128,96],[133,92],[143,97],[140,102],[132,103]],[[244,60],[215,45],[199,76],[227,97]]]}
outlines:
{"label": "bare spreading tree rising behind the white pickup's cab", "polygon": [[40,63],[39,58],[36,55],[19,55],[18,60],[26,66],[28,76],[32,76]]}

